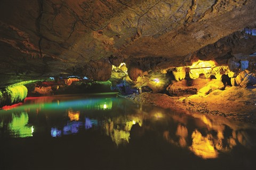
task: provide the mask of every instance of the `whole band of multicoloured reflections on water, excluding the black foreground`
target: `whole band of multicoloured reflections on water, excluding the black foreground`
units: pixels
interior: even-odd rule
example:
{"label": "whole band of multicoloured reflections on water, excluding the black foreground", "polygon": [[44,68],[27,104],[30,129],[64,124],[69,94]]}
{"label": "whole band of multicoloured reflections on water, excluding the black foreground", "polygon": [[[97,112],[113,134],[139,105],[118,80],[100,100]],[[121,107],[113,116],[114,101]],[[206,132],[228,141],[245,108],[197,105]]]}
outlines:
{"label": "whole band of multicoloured reflections on water, excluding the black foreground", "polygon": [[256,134],[255,127],[222,117],[183,115],[106,96],[29,98],[22,106],[0,110],[2,137],[62,137],[87,131],[108,136],[117,147],[151,134],[203,159],[217,158],[237,146],[253,148]]}

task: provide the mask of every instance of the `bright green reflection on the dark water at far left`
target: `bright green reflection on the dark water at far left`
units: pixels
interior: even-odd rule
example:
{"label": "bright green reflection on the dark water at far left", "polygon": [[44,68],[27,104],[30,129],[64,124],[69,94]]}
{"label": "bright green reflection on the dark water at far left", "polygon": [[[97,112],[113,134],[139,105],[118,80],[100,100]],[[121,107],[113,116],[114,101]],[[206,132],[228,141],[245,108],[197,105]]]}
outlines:
{"label": "bright green reflection on the dark water at far left", "polygon": [[33,136],[34,127],[28,125],[27,112],[21,112],[21,115],[12,114],[12,122],[9,124],[11,135],[13,137]]}

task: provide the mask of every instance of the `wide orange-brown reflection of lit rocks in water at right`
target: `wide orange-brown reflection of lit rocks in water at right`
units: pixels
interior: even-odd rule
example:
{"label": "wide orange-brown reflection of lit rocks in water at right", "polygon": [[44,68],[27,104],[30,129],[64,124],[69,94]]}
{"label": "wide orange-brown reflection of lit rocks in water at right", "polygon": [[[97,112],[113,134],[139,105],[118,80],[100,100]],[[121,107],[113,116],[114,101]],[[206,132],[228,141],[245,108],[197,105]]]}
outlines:
{"label": "wide orange-brown reflection of lit rocks in water at right", "polygon": [[[214,119],[211,119],[205,115],[193,116],[198,119],[195,122],[196,127],[189,129],[190,131],[186,127],[189,121],[184,120],[182,117],[173,117],[175,122],[179,122],[175,133],[176,136],[171,136],[169,131],[164,131],[164,139],[179,147],[188,148],[196,156],[203,159],[217,158],[220,152],[229,152],[236,145],[243,145],[246,148],[252,147],[251,139],[245,132],[247,125],[234,124],[230,120],[223,118],[217,119],[214,117]],[[225,133],[227,128],[231,129],[232,133]],[[188,144],[190,137],[192,140],[191,145]]]}

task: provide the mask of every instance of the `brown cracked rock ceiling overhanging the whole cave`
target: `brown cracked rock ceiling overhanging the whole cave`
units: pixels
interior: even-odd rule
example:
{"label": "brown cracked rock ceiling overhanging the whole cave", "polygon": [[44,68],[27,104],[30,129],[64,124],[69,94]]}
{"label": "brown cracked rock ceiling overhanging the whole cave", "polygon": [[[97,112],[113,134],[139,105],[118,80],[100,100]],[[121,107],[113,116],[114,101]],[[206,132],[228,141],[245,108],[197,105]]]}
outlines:
{"label": "brown cracked rock ceiling overhanging the whole cave", "polygon": [[[83,75],[106,80],[111,64],[226,63],[256,51],[254,0],[38,0],[0,2],[0,87]],[[135,66],[134,66],[135,65]]]}

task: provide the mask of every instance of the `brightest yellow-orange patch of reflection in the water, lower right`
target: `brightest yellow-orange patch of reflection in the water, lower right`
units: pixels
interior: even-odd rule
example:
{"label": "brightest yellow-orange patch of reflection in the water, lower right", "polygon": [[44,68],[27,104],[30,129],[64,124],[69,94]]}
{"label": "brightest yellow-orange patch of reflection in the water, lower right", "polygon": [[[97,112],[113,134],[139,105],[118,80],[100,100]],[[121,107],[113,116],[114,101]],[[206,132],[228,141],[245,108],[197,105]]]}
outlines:
{"label": "brightest yellow-orange patch of reflection in the water, lower right", "polygon": [[191,137],[193,142],[189,149],[193,151],[195,155],[204,159],[218,157],[218,152],[215,151],[213,143],[210,140],[212,138],[211,135],[204,137],[200,132],[196,130],[193,132]]}

